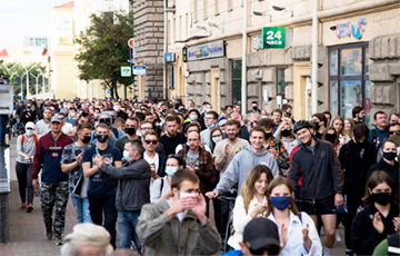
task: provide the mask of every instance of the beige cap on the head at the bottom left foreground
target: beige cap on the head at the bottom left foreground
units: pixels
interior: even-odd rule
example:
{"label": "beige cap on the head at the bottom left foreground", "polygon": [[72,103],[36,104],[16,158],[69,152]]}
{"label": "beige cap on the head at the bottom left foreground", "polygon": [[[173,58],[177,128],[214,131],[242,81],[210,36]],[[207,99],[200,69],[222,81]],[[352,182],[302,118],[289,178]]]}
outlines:
{"label": "beige cap on the head at the bottom left foreground", "polygon": [[73,232],[64,238],[66,243],[72,245],[106,247],[107,255],[113,250],[110,240],[111,236],[107,229],[92,223],[77,224]]}

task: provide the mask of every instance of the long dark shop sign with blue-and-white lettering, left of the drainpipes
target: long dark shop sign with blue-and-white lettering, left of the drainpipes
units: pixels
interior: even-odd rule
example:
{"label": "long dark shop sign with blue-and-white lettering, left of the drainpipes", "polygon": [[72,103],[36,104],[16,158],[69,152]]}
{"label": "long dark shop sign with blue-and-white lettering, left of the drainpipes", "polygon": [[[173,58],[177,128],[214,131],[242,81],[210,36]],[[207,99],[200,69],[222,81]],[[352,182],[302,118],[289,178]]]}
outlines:
{"label": "long dark shop sign with blue-and-white lettering, left of the drainpipes", "polygon": [[223,40],[188,48],[188,61],[219,58],[224,56]]}

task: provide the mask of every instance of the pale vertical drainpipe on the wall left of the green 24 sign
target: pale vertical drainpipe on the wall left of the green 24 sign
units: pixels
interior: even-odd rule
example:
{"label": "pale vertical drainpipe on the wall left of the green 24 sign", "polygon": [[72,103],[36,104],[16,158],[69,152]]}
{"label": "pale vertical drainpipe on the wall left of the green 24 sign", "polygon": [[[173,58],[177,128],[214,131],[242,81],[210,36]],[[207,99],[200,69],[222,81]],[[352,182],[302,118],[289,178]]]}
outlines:
{"label": "pale vertical drainpipe on the wall left of the green 24 sign", "polygon": [[248,0],[243,1],[243,31],[242,31],[242,77],[241,77],[241,110],[247,114],[247,24],[248,24]]}

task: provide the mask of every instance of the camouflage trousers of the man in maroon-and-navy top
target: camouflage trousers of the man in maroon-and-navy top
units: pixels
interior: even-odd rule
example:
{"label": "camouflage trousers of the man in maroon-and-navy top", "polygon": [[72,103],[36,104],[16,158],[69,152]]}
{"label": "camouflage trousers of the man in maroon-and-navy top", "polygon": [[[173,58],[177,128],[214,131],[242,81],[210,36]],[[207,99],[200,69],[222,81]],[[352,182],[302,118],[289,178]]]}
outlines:
{"label": "camouflage trousers of the man in maroon-and-navy top", "polygon": [[54,236],[61,236],[64,230],[68,197],[68,181],[41,184],[40,201],[44,225],[48,230],[51,230],[53,224],[52,213],[56,205]]}

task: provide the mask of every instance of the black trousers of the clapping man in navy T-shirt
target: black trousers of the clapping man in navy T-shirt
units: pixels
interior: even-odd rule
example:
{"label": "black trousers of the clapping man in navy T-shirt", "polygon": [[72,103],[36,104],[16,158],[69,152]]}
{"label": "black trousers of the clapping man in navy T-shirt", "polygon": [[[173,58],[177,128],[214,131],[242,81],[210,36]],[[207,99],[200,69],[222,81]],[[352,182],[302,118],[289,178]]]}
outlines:
{"label": "black trousers of the clapping man in navy T-shirt", "polygon": [[[104,226],[110,233],[111,245],[116,248],[116,224],[118,213],[116,209],[116,195],[89,195],[89,210],[93,224]],[[104,213],[104,223],[103,223]]]}

